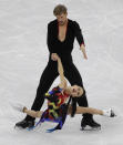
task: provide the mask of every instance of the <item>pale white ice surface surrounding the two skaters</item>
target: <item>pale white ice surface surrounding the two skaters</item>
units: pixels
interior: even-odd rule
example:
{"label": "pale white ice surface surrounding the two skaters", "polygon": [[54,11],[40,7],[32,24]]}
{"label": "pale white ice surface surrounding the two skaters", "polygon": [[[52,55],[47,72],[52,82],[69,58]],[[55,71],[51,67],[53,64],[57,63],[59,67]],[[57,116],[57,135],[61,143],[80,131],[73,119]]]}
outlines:
{"label": "pale white ice surface surrounding the two skaters", "polygon": [[[82,28],[89,60],[76,41],[72,55],[90,106],[117,113],[115,118],[94,116],[101,131],[80,131],[81,115],[68,117],[63,130],[52,134],[45,133],[54,126],[50,123],[31,132],[13,128],[24,114],[11,104],[31,107],[47,65],[47,24],[55,19],[58,3]],[[123,145],[122,86],[123,0],[0,0],[0,145]]]}

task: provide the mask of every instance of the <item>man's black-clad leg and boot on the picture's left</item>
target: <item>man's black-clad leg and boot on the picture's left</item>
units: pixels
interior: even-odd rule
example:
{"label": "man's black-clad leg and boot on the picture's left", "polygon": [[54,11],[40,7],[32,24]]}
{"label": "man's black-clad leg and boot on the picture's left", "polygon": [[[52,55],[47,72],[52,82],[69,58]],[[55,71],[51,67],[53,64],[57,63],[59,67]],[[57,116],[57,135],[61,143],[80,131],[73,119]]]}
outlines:
{"label": "man's black-clad leg and boot on the picture's left", "polygon": [[[57,62],[51,61],[47,68],[44,69],[40,83],[37,90],[35,100],[33,102],[33,105],[31,110],[40,111],[43,102],[44,102],[44,93],[49,91],[50,86],[52,85],[53,81],[58,76],[58,70],[57,70]],[[16,124],[18,127],[31,127],[34,125],[34,117],[31,117],[29,115],[25,116],[25,118],[19,123]]]}

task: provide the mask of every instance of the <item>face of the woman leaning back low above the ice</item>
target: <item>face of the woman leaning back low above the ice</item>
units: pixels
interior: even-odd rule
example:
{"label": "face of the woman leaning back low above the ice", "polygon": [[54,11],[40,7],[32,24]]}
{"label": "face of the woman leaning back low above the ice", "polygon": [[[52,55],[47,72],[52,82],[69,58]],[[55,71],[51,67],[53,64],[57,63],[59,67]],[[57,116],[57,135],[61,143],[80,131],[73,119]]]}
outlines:
{"label": "face of the woman leaning back low above the ice", "polygon": [[79,97],[83,94],[83,89],[81,86],[78,86],[78,85],[73,85],[71,86],[71,95],[73,97]]}

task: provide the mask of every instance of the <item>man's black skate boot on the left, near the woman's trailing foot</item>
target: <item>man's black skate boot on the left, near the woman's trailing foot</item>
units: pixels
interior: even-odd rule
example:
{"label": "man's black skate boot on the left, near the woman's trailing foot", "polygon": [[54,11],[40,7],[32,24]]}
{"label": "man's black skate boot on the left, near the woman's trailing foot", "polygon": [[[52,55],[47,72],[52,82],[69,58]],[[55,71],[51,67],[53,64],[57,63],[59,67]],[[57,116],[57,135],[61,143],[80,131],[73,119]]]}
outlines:
{"label": "man's black skate boot on the left, near the woman's trailing foot", "polygon": [[14,127],[20,127],[20,128],[27,128],[27,127],[33,127],[34,126],[34,121],[27,121],[23,120],[21,122],[18,122]]}

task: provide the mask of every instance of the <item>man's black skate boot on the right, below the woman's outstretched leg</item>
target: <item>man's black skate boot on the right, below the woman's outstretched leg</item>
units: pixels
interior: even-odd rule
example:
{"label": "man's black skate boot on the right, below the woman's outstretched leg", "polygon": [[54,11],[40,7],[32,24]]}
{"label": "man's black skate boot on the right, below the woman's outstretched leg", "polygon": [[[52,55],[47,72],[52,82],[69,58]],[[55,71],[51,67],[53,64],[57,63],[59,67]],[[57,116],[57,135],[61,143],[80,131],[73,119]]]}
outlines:
{"label": "man's black skate boot on the right, below the woman's outstretched leg", "polygon": [[96,123],[90,114],[84,115],[81,121],[82,131],[85,130],[88,125],[93,130],[101,130],[101,125]]}

